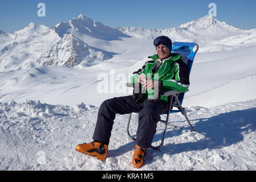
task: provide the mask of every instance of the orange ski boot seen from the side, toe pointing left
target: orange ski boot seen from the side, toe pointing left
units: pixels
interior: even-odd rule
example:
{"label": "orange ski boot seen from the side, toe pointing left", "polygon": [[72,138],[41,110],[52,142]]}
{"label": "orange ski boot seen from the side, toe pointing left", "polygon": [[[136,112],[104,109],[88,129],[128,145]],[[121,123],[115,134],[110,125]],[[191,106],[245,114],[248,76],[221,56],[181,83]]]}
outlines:
{"label": "orange ski boot seen from the side, toe pointing left", "polygon": [[83,143],[78,144],[75,150],[105,161],[108,154],[108,145],[99,142]]}

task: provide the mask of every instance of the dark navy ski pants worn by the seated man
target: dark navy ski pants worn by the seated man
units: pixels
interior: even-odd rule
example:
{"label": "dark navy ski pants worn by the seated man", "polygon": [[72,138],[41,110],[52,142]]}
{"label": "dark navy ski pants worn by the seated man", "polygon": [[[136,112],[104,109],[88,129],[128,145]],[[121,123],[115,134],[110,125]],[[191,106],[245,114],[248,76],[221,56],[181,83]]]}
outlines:
{"label": "dark navy ski pants worn by the seated man", "polygon": [[100,105],[92,139],[108,144],[116,114],[139,113],[136,143],[140,147],[149,148],[156,134],[160,114],[164,113],[166,105],[167,102],[162,100],[157,103],[145,100],[143,103],[137,104],[133,101],[132,96],[114,97],[105,100]]}

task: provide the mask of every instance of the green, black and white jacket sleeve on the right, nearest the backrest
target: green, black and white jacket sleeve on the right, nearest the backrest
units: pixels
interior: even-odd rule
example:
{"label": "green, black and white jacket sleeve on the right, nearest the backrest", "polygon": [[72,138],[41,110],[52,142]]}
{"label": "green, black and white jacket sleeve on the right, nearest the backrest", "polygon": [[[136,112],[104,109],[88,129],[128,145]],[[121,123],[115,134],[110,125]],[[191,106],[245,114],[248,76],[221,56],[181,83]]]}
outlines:
{"label": "green, black and white jacket sleeve on the right, nearest the backrest", "polygon": [[174,77],[162,80],[164,89],[187,92],[189,88],[189,69],[182,60],[177,60],[174,64]]}

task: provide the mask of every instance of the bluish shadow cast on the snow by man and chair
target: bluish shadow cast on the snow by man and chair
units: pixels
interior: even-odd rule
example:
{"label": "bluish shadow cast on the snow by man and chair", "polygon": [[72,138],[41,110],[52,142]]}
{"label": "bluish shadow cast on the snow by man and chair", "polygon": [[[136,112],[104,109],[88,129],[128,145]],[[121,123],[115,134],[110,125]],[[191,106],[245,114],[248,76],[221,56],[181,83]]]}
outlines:
{"label": "bluish shadow cast on the snow by man and chair", "polygon": [[[210,118],[201,118],[193,127],[196,133],[204,134],[205,138],[196,142],[177,144],[168,143],[165,140],[164,146],[160,149],[159,156],[164,154],[174,155],[194,150],[200,151],[206,148],[223,148],[241,142],[243,140],[242,133],[256,130],[256,108],[231,111]],[[185,129],[189,130],[190,127],[188,126]],[[175,132],[169,130],[166,131],[165,139],[181,134],[182,130],[175,130]],[[124,137],[126,136],[124,135]],[[161,140],[161,138],[162,133],[156,134],[153,141]],[[116,150],[109,150],[109,156],[114,158],[123,155],[125,152],[133,150],[134,146],[135,142],[129,142]],[[149,163],[151,162],[149,161]]]}

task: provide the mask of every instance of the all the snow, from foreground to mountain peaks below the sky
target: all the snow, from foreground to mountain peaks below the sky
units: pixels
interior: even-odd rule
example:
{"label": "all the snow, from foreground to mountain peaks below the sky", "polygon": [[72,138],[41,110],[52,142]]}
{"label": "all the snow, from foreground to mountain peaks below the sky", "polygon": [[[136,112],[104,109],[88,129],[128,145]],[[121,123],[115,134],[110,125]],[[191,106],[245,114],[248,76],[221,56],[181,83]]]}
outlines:
{"label": "all the snow, from foreground to mountain peaks below the sky", "polygon": [[[170,115],[183,129],[168,128],[161,151],[149,149],[135,169],[128,115],[117,114],[105,162],[76,152],[91,142],[101,102],[132,94],[124,84],[156,53],[152,42],[160,35],[200,46],[183,102],[195,131],[181,113]],[[0,31],[0,169],[255,170],[255,40],[256,29],[212,16],[153,30],[114,29],[79,15],[51,28]],[[132,135],[136,129],[134,113]],[[162,130],[159,124],[154,145]]]}

